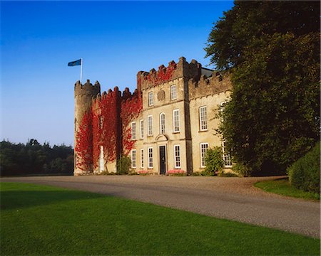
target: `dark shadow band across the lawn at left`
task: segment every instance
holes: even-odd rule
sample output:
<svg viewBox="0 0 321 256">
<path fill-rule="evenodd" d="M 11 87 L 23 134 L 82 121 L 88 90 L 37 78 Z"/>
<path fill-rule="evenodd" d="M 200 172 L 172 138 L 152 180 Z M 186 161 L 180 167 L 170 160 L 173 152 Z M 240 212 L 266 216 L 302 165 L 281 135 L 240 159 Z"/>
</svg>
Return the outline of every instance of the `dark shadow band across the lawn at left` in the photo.
<svg viewBox="0 0 321 256">
<path fill-rule="evenodd" d="M 83 191 L 1 191 L 0 208 L 11 210 L 101 197 L 102 195 Z"/>
</svg>

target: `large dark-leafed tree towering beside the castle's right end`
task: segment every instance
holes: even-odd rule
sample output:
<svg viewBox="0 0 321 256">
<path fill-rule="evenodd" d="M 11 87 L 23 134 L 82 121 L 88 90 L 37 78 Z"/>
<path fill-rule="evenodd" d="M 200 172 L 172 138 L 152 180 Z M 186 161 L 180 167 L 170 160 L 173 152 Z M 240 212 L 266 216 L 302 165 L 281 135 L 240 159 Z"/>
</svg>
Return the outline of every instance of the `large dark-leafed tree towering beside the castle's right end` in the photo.
<svg viewBox="0 0 321 256">
<path fill-rule="evenodd" d="M 220 132 L 247 174 L 282 174 L 320 132 L 320 3 L 250 1 L 218 21 L 205 48 L 232 69 Z"/>
</svg>

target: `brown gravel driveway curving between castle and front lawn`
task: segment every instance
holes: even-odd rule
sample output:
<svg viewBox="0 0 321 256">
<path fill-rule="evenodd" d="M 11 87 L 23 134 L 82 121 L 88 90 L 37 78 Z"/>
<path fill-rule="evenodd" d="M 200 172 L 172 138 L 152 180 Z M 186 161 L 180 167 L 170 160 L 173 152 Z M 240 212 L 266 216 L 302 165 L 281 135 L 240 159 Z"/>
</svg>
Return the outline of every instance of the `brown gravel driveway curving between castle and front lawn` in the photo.
<svg viewBox="0 0 321 256">
<path fill-rule="evenodd" d="M 75 188 L 320 238 L 319 202 L 253 187 L 273 178 L 277 177 L 39 176 L 0 181 Z"/>
</svg>

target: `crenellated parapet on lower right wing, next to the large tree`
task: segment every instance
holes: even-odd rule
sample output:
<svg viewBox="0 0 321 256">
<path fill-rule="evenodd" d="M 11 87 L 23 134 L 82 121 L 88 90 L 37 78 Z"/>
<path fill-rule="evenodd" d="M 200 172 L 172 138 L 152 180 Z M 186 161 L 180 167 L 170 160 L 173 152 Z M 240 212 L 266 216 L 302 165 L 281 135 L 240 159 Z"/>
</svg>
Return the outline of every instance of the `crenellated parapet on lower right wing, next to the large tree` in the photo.
<svg viewBox="0 0 321 256">
<path fill-rule="evenodd" d="M 206 75 L 201 75 L 199 80 L 190 79 L 188 81 L 188 95 L 190 100 L 230 90 L 232 90 L 232 83 L 229 73 L 221 74 L 219 72 L 213 72 L 213 75 L 209 78 Z"/>
</svg>

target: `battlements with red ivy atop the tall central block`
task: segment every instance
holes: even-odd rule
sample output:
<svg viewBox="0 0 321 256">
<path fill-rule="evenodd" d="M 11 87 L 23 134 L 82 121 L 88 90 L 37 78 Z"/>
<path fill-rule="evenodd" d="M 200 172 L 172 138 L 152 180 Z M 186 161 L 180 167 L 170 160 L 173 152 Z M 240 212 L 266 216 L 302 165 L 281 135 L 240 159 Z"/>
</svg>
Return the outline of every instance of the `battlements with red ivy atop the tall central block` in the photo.
<svg viewBox="0 0 321 256">
<path fill-rule="evenodd" d="M 180 57 L 178 63 L 174 60 L 168 63 L 168 67 L 160 65 L 158 71 L 154 68 L 150 72 L 139 71 L 137 73 L 137 89 L 138 91 L 146 90 L 150 87 L 157 86 L 163 82 L 168 82 L 177 78 L 200 78 L 202 65 L 196 60 L 191 60 L 190 63 L 184 57 Z"/>
</svg>

